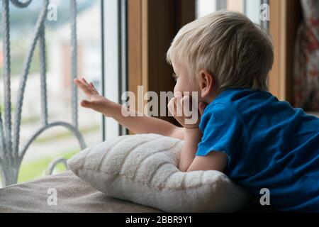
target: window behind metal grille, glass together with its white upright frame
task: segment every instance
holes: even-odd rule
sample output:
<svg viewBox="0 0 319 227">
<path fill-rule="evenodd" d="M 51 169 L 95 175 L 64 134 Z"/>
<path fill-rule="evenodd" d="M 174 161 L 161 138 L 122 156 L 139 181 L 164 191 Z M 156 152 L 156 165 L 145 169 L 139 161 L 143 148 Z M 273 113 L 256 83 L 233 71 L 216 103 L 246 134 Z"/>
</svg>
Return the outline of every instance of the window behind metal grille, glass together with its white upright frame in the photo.
<svg viewBox="0 0 319 227">
<path fill-rule="evenodd" d="M 118 102 L 125 88 L 125 37 L 120 33 L 121 16 L 125 19 L 125 1 L 77 0 L 77 77 L 93 82 L 99 92 Z M 20 74 L 30 40 L 35 30 L 43 1 L 32 1 L 20 9 L 10 2 L 11 18 L 11 121 L 14 121 Z M 70 1 L 51 0 L 49 12 L 55 15 L 45 21 L 47 57 L 47 112 L 49 123 L 72 123 L 72 48 L 70 45 Z M 2 12 L 0 11 L 0 14 Z M 122 19 L 123 19 L 122 18 Z M 122 25 L 124 26 L 124 25 Z M 106 32 L 107 31 L 107 32 Z M 122 29 L 125 34 L 125 27 Z M 0 79 L 3 80 L 3 35 L 0 33 Z M 121 39 L 122 38 L 122 39 Z M 37 45 L 38 46 L 38 45 Z M 103 48 L 104 47 L 104 48 Z M 107 48 L 106 48 L 107 47 Z M 42 126 L 40 99 L 40 64 L 36 48 L 24 92 L 19 148 Z M 124 55 L 125 56 L 125 55 Z M 124 63 L 123 63 L 124 62 Z M 121 65 L 123 64 L 123 65 Z M 86 99 L 78 92 L 78 102 Z M 0 108 L 4 121 L 4 89 L 0 89 Z M 117 123 L 106 120 L 91 109 L 78 106 L 78 127 L 86 147 L 100 143 L 106 137 L 125 133 Z M 23 158 L 18 182 L 26 182 L 44 175 L 45 169 L 56 157 L 72 157 L 82 150 L 73 133 L 64 127 L 49 128 L 30 144 Z M 64 171 L 57 165 L 55 172 Z M 0 175 L 1 177 L 1 175 Z"/>
</svg>

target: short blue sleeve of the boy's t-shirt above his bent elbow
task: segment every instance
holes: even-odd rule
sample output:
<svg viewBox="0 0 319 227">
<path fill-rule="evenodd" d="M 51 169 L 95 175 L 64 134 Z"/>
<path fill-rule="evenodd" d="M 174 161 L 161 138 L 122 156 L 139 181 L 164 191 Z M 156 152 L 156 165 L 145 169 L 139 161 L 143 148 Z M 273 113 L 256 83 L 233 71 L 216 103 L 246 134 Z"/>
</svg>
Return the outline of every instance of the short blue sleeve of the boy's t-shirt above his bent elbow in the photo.
<svg viewBox="0 0 319 227">
<path fill-rule="evenodd" d="M 211 151 L 228 155 L 228 165 L 238 148 L 243 134 L 242 118 L 225 104 L 214 104 L 205 109 L 199 128 L 203 133 L 198 143 L 197 156 L 206 156 Z"/>
</svg>

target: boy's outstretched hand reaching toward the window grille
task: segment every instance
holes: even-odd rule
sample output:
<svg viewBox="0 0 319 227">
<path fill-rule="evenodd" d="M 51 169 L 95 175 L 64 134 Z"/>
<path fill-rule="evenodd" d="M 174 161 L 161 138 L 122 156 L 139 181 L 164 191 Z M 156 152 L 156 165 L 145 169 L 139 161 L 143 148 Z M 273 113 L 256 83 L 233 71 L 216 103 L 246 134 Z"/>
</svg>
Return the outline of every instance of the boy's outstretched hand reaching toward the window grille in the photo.
<svg viewBox="0 0 319 227">
<path fill-rule="evenodd" d="M 104 96 L 101 96 L 99 92 L 95 89 L 92 83 L 86 82 L 84 78 L 74 79 L 74 83 L 77 84 L 77 87 L 84 92 L 87 96 L 87 100 L 81 101 L 81 106 L 89 109 L 94 109 L 94 111 L 101 112 L 102 114 L 108 116 L 108 110 L 111 105 L 111 101 L 106 99 Z"/>
</svg>

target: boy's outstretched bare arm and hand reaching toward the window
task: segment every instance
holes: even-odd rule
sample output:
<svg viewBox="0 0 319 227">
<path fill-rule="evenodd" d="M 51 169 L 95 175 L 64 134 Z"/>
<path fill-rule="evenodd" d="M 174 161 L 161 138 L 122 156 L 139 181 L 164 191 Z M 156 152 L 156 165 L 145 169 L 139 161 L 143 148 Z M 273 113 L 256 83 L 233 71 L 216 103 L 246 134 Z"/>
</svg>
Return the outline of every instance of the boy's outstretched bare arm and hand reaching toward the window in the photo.
<svg viewBox="0 0 319 227">
<path fill-rule="evenodd" d="M 184 128 L 174 126 L 172 123 L 149 116 L 137 116 L 137 113 L 130 110 L 130 116 L 122 114 L 122 105 L 106 99 L 96 91 L 92 83 L 86 82 L 84 78 L 74 79 L 79 89 L 82 89 L 88 100 L 83 100 L 81 106 L 94 109 L 106 117 L 114 118 L 122 126 L 128 128 L 133 133 L 157 133 L 184 139 Z"/>
</svg>

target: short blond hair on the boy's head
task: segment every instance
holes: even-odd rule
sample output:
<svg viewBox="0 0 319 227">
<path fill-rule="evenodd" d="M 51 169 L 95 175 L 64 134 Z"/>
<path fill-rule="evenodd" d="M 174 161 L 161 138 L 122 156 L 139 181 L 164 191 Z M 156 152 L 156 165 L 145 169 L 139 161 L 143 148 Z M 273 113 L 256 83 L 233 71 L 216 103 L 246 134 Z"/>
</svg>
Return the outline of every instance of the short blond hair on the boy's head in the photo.
<svg viewBox="0 0 319 227">
<path fill-rule="evenodd" d="M 242 13 L 217 11 L 179 31 L 167 51 L 167 62 L 179 62 L 198 76 L 208 70 L 220 90 L 249 88 L 267 91 L 272 69 L 272 40 Z"/>
</svg>

